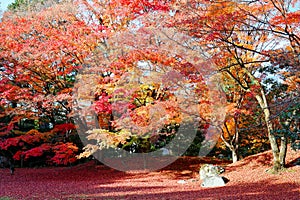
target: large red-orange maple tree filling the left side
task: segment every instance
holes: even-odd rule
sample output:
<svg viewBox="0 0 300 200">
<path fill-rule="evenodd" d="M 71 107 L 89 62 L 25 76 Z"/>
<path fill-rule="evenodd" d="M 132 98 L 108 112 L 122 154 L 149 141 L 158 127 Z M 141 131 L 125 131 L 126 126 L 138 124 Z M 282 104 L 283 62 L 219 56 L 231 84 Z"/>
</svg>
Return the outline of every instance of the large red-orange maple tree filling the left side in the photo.
<svg viewBox="0 0 300 200">
<path fill-rule="evenodd" d="M 39 156 L 49 151 L 49 146 L 40 143 L 50 142 L 56 153 L 75 145 L 67 143 L 74 139 L 70 130 L 75 129 L 74 126 L 68 127 L 73 122 L 69 115 L 72 86 L 83 57 L 89 53 L 89 45 L 95 41 L 88 39 L 92 28 L 84 26 L 71 10 L 72 4 L 58 4 L 41 12 L 6 12 L 2 18 L 0 98 L 1 137 L 4 139 L 2 144 L 5 144 L 2 150 L 17 153 L 18 156 L 11 155 L 16 159 L 20 152 L 9 148 L 23 147 L 18 144 L 20 140 L 23 144 L 24 139 L 27 145 L 22 154 L 25 158 L 26 155 Z M 51 139 L 42 139 L 47 135 L 42 133 L 30 136 L 34 139 L 27 141 L 29 135 L 19 132 L 23 129 L 22 121 L 27 119 L 36 122 L 35 129 L 46 126 L 55 131 Z M 77 150 L 73 149 L 71 154 L 74 157 Z M 55 162 L 74 162 L 75 157 L 68 152 L 60 156 L 56 154 Z M 64 161 L 61 160 L 63 156 Z"/>
</svg>

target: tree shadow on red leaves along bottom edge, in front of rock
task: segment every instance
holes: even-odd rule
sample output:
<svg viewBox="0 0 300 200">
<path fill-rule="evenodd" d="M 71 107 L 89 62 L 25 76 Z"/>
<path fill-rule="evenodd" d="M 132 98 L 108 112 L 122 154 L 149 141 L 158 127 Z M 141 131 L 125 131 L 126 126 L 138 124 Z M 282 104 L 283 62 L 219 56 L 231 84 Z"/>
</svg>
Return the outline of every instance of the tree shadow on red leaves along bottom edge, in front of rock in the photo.
<svg viewBox="0 0 300 200">
<path fill-rule="evenodd" d="M 99 193 L 86 193 L 89 199 L 299 199 L 299 184 L 274 184 L 273 180 L 234 184 L 218 188 L 185 188 L 182 191 L 164 190 L 164 187 L 122 187 L 116 194 L 115 187 L 99 188 Z M 155 190 L 160 192 L 156 192 Z M 110 192 L 111 191 L 111 192 Z M 119 193 L 119 191 L 121 191 Z M 142 191 L 142 192 L 141 192 Z M 138 194 L 136 193 L 138 192 Z M 73 196 L 74 197 L 74 196 Z M 76 197 L 76 196 L 75 196 Z"/>
</svg>

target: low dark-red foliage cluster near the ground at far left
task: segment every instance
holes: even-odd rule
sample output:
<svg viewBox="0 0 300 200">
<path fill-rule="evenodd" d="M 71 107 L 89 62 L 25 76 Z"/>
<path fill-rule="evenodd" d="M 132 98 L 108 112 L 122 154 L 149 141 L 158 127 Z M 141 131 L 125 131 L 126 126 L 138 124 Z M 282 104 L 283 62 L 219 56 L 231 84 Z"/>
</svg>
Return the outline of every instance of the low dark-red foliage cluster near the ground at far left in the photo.
<svg viewBox="0 0 300 200">
<path fill-rule="evenodd" d="M 0 149 L 11 152 L 16 161 L 44 158 L 45 164 L 68 165 L 77 161 L 78 147 L 72 142 L 64 143 L 61 138 L 65 139 L 64 134 L 74 129 L 73 124 L 60 124 L 45 133 L 33 129 L 23 135 L 0 141 Z"/>
</svg>

